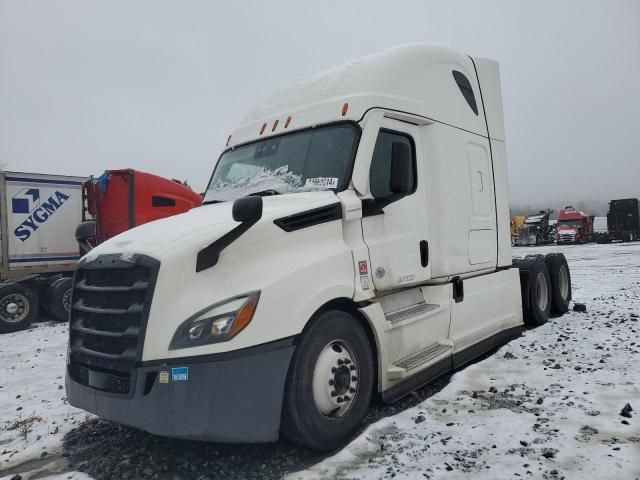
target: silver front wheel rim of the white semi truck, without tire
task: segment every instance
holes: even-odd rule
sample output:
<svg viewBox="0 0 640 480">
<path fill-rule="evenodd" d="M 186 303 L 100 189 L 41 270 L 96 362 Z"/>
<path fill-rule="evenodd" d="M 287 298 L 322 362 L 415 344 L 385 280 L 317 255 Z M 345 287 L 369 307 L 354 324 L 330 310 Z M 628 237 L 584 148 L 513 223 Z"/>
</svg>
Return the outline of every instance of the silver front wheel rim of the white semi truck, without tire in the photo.
<svg viewBox="0 0 640 480">
<path fill-rule="evenodd" d="M 313 400 L 322 415 L 341 418 L 351 409 L 358 394 L 359 372 L 348 342 L 332 340 L 322 349 L 313 369 Z"/>
</svg>

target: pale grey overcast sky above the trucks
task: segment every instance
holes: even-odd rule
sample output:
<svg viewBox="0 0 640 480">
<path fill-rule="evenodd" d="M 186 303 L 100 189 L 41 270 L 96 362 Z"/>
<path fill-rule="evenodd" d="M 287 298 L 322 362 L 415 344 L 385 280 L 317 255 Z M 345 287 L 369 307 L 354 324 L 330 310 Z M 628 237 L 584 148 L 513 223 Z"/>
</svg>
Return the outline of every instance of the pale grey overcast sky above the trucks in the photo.
<svg viewBox="0 0 640 480">
<path fill-rule="evenodd" d="M 513 203 L 640 197 L 638 0 L 0 0 L 0 162 L 202 189 L 271 90 L 411 42 L 500 62 Z"/>
</svg>

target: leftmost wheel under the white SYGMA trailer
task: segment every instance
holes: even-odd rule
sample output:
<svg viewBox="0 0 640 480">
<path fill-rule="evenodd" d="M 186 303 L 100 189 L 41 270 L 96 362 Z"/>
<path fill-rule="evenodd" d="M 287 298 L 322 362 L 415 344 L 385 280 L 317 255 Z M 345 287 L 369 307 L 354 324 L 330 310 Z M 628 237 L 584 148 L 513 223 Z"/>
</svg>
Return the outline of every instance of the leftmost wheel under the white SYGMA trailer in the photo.
<svg viewBox="0 0 640 480">
<path fill-rule="evenodd" d="M 24 330 L 38 317 L 38 293 L 17 283 L 0 288 L 0 333 Z"/>
</svg>

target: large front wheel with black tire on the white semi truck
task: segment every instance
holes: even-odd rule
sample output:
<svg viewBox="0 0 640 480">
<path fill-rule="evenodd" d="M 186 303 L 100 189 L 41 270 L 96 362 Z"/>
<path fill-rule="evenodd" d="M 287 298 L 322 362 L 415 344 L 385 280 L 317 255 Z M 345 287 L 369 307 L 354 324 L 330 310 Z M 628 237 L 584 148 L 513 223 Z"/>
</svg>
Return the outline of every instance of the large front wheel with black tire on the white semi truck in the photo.
<svg viewBox="0 0 640 480">
<path fill-rule="evenodd" d="M 363 328 L 328 311 L 304 332 L 289 368 L 282 433 L 316 450 L 332 450 L 357 431 L 373 390 L 373 357 Z"/>
</svg>

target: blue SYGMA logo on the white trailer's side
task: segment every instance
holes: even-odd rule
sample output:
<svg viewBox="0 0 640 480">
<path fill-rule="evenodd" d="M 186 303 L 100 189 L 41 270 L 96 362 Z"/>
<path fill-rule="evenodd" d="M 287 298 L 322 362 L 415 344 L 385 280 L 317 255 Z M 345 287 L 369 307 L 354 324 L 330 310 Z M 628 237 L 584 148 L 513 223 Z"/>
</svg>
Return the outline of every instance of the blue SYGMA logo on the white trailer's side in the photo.
<svg viewBox="0 0 640 480">
<path fill-rule="evenodd" d="M 30 215 L 14 230 L 14 235 L 21 241 L 31 237 L 40 225 L 45 223 L 67 200 L 69 195 L 59 190 L 46 201 L 40 202 L 40 190 L 29 188 L 20 190 L 11 199 L 12 213 L 29 213 Z"/>
</svg>

